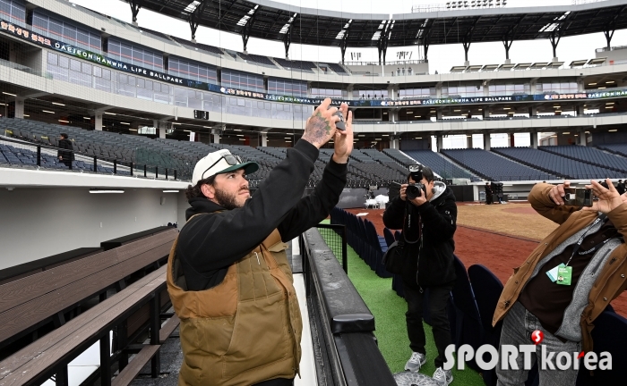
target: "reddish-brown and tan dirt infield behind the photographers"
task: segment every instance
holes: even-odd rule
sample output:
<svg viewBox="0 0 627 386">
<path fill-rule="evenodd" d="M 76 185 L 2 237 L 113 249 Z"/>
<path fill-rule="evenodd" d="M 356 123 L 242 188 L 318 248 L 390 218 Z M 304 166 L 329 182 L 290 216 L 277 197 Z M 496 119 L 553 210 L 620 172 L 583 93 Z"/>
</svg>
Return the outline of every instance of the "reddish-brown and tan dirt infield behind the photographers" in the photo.
<svg viewBox="0 0 627 386">
<path fill-rule="evenodd" d="M 364 217 L 374 223 L 377 233 L 383 234 L 382 209 L 348 209 L 348 212 L 367 213 Z M 526 203 L 460 205 L 455 254 L 466 268 L 483 264 L 504 283 L 513 268 L 556 227 Z M 614 299 L 612 306 L 618 314 L 627 316 L 627 294 Z"/>
</svg>

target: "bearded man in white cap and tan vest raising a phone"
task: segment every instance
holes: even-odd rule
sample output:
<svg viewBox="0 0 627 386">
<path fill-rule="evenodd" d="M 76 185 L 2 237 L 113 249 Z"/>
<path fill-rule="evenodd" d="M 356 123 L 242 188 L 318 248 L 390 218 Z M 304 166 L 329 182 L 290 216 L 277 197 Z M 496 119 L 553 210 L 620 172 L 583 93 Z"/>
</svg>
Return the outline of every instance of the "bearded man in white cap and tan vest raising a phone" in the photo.
<svg viewBox="0 0 627 386">
<path fill-rule="evenodd" d="M 179 385 L 292 385 L 299 372 L 302 321 L 285 249 L 338 203 L 353 148 L 352 113 L 337 130 L 325 99 L 254 193 L 258 169 L 228 150 L 202 158 L 187 189 L 192 206 L 170 253 L 167 289 L 181 319 Z M 303 197 L 319 148 L 334 154 L 314 192 Z"/>
</svg>

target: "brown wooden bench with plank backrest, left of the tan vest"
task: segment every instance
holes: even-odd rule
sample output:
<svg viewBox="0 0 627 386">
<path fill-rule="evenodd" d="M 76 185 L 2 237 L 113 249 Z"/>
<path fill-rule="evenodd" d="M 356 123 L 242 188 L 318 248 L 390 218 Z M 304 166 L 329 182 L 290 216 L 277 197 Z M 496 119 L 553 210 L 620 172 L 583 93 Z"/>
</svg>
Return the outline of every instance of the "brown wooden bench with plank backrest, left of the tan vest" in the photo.
<svg viewBox="0 0 627 386">
<path fill-rule="evenodd" d="M 50 315 L 56 315 L 58 325 L 54 331 L 0 362 L 0 385 L 37 384 L 53 374 L 56 374 L 57 386 L 65 385 L 67 364 L 98 340 L 103 364 L 99 369 L 102 385 L 111 384 L 110 365 L 116 360 L 120 369 L 116 384 L 130 382 L 150 358 L 152 376 L 158 376 L 160 343 L 178 325 L 177 318 L 171 317 L 164 328 L 160 328 L 161 318 L 168 316 L 161 314 L 169 302 L 166 266 L 128 287 L 125 278 L 163 261 L 176 234 L 176 230 L 170 228 L 0 285 L 0 341 L 10 340 Z M 118 292 L 110 298 L 103 297 L 113 285 Z M 102 300 L 98 305 L 65 323 L 64 310 L 98 294 Z M 150 322 L 150 345 L 133 345 L 133 338 L 146 330 L 142 329 L 146 322 Z M 114 340 L 117 347 L 114 347 L 114 356 L 109 357 L 109 331 L 112 330 L 117 331 L 117 340 Z M 131 365 L 127 363 L 129 353 L 136 353 Z"/>
</svg>

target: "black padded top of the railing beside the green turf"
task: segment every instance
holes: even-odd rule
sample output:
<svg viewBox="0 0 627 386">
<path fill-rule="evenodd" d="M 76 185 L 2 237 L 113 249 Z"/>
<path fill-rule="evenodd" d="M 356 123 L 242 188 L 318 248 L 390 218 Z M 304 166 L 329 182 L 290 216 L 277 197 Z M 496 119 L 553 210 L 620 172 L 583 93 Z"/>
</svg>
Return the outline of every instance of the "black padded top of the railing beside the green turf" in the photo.
<svg viewBox="0 0 627 386">
<path fill-rule="evenodd" d="M 324 313 L 329 318 L 331 333 L 374 331 L 374 316 L 320 232 L 312 228 L 305 232 L 305 239 L 312 278 L 320 289 L 319 296 L 325 308 Z"/>
</svg>

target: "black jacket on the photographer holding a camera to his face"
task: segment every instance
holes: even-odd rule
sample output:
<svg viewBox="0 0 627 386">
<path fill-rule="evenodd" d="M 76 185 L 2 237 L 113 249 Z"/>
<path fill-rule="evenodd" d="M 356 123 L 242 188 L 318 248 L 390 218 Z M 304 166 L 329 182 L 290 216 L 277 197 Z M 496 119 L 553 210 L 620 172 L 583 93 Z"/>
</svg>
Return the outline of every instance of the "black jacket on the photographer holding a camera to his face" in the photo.
<svg viewBox="0 0 627 386">
<path fill-rule="evenodd" d="M 417 240 L 413 244 L 405 242 L 402 248 L 402 277 L 407 285 L 426 288 L 456 279 L 453 266 L 453 235 L 457 227 L 455 196 L 451 188 L 444 188 L 441 182 L 436 182 L 437 188 L 444 190 L 422 206 L 414 206 L 396 197 L 383 214 L 386 227 L 402 229 L 400 240 Z M 411 215 L 411 223 L 406 216 L 406 208 Z M 418 230 L 418 224 L 422 231 Z"/>
</svg>

